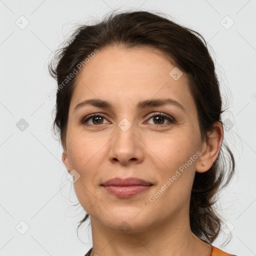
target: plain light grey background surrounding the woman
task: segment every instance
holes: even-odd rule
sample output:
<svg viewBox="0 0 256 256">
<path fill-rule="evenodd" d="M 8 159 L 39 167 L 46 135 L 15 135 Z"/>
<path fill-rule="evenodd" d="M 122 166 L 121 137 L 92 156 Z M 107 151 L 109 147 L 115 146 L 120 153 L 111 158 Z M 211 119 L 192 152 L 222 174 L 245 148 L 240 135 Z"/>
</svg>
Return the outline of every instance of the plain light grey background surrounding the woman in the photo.
<svg viewBox="0 0 256 256">
<path fill-rule="evenodd" d="M 213 49 L 228 108 L 224 136 L 236 161 L 218 201 L 226 222 L 213 245 L 255 255 L 255 0 L 0 0 L 0 255 L 84 255 L 92 245 L 88 222 L 76 236 L 85 212 L 72 206 L 73 184 L 50 132 L 55 96 L 46 95 L 56 83 L 47 63 L 74 24 L 116 8 L 162 11 Z"/>
</svg>

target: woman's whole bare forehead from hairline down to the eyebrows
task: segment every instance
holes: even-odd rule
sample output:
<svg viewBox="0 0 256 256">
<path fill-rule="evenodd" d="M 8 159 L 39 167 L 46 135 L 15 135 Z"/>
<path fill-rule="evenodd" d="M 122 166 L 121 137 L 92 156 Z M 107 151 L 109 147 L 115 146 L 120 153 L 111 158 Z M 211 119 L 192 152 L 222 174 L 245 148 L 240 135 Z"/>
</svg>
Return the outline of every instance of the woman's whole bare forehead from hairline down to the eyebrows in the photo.
<svg viewBox="0 0 256 256">
<path fill-rule="evenodd" d="M 101 49 L 76 75 L 70 109 L 90 98 L 128 107 L 135 106 L 137 101 L 166 97 L 189 109 L 193 99 L 186 75 L 183 73 L 178 79 L 173 79 L 170 72 L 175 68 L 164 53 L 155 48 Z"/>
</svg>

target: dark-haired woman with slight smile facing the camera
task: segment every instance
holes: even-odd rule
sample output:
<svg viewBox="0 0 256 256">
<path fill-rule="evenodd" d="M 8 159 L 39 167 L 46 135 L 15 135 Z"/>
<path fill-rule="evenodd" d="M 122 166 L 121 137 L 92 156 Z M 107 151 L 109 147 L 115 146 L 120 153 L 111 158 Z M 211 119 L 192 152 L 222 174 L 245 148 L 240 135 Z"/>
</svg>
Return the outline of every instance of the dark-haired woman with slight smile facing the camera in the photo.
<svg viewBox="0 0 256 256">
<path fill-rule="evenodd" d="M 49 64 L 62 161 L 87 212 L 80 224 L 91 221 L 86 255 L 231 255 L 212 245 L 234 159 L 198 35 L 148 11 L 111 13 L 77 28 Z"/>
</svg>

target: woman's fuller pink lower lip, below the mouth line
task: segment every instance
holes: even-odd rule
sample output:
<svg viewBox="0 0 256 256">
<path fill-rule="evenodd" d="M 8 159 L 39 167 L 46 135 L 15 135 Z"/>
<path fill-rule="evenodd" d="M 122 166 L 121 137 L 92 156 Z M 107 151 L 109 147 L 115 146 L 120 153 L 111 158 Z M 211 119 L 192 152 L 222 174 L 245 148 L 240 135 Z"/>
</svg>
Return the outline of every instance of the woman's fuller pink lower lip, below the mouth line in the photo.
<svg viewBox="0 0 256 256">
<path fill-rule="evenodd" d="M 152 185 L 131 185 L 131 186 L 104 186 L 110 194 L 117 197 L 131 197 L 149 189 Z"/>
</svg>

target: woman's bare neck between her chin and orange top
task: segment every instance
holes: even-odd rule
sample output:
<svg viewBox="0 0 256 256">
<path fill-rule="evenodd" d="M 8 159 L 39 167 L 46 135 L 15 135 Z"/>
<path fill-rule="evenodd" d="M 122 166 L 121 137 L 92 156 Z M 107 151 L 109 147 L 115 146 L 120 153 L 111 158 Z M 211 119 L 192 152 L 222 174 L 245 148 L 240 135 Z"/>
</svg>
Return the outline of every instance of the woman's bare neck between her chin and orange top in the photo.
<svg viewBox="0 0 256 256">
<path fill-rule="evenodd" d="M 180 214 L 181 215 L 181 214 Z M 143 231 L 122 233 L 102 225 L 91 217 L 92 256 L 210 256 L 210 244 L 200 240 L 190 230 L 189 216 L 168 217 L 162 222 L 147 226 Z"/>
</svg>

